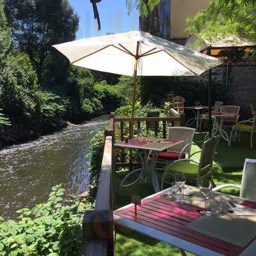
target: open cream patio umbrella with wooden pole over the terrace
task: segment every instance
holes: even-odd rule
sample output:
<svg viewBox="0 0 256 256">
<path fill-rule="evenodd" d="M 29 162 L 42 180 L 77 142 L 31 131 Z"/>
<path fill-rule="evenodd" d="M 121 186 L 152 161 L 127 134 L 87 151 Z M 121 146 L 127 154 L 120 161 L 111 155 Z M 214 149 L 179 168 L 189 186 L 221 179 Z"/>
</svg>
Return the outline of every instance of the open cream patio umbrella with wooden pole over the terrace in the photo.
<svg viewBox="0 0 256 256">
<path fill-rule="evenodd" d="M 200 76 L 221 61 L 143 31 L 84 38 L 53 45 L 72 65 L 133 76 L 132 118 L 137 76 Z"/>
</svg>

